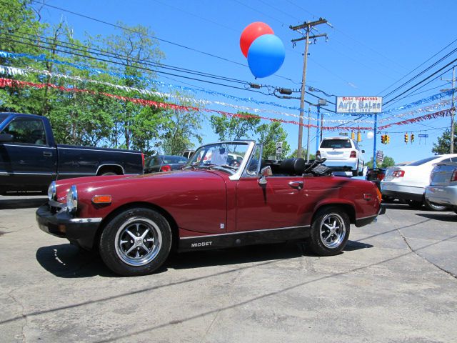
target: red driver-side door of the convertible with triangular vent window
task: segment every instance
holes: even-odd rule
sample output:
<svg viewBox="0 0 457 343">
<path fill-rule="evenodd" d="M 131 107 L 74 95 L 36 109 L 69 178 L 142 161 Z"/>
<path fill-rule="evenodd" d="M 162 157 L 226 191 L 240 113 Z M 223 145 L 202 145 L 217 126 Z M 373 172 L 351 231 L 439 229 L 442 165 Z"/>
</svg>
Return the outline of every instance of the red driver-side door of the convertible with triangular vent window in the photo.
<svg viewBox="0 0 457 343">
<path fill-rule="evenodd" d="M 253 156 L 251 164 L 254 160 L 260 159 L 261 155 L 259 151 L 254 151 Z M 238 180 L 236 232 L 304 226 L 304 178 L 271 176 L 266 180 L 266 184 L 258 183 L 258 171 L 252 172 L 251 175 L 245 172 Z"/>
</svg>

